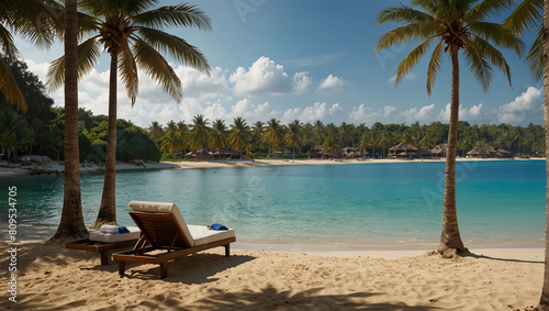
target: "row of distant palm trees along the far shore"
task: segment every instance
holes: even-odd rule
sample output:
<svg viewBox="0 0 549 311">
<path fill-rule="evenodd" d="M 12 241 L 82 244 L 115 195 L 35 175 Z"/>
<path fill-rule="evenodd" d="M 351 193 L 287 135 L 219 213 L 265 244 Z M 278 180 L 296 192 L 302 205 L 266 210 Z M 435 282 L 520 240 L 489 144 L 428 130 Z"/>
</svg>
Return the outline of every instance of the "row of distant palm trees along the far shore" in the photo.
<svg viewBox="0 0 549 311">
<path fill-rule="evenodd" d="M 411 143 L 423 148 L 433 148 L 447 143 L 448 124 L 433 122 L 419 125 L 374 123 L 371 127 L 365 124 L 343 122 L 324 124 L 317 120 L 314 123 L 302 123 L 294 120 L 288 125 L 277 119 L 268 122 L 257 121 L 249 126 L 243 118 L 235 118 L 231 125 L 223 120 L 210 121 L 202 114 L 192 119 L 190 124 L 183 121 L 169 121 L 166 126 L 153 122 L 147 129 L 149 136 L 165 153 L 183 156 L 188 151 L 202 148 L 227 148 L 240 154 L 251 153 L 273 156 L 273 152 L 291 152 L 300 156 L 312 148 L 336 151 L 352 146 L 368 151 L 376 156 L 385 157 L 389 148 L 399 143 Z M 545 151 L 544 127 L 528 126 L 470 125 L 460 121 L 458 126 L 457 149 L 464 156 L 472 148 L 482 149 L 485 146 L 505 148 L 514 154 L 542 156 Z"/>
</svg>

